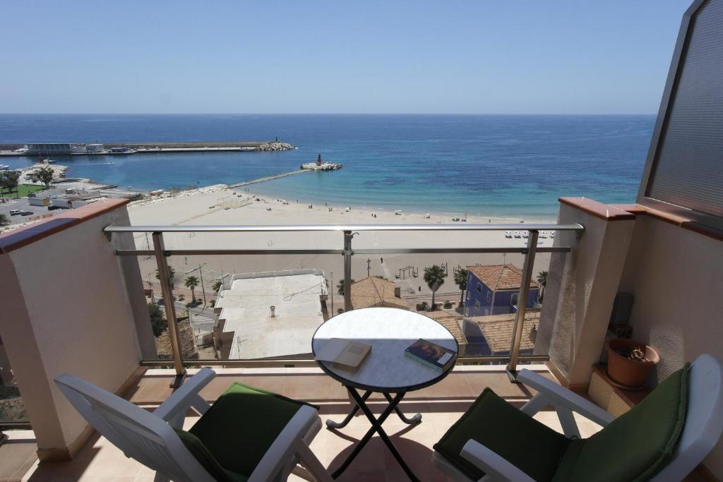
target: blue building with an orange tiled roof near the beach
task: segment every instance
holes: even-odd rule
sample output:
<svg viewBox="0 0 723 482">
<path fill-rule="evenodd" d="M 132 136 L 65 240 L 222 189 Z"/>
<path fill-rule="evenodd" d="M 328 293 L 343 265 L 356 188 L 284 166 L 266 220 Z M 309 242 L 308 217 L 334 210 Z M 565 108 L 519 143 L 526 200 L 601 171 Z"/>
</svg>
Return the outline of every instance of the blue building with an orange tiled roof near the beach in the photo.
<svg viewBox="0 0 723 482">
<path fill-rule="evenodd" d="M 522 272 L 514 264 L 468 266 L 467 292 L 464 314 L 466 317 L 487 317 L 493 314 L 517 311 Z M 537 304 L 539 285 L 530 280 L 527 308 Z"/>
</svg>

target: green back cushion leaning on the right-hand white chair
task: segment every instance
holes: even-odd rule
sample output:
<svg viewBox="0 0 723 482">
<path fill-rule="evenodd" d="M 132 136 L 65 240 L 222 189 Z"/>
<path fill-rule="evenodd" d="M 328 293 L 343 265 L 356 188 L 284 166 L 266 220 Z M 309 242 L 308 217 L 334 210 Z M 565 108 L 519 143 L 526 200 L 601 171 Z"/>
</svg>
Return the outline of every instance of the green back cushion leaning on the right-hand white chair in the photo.
<svg viewBox="0 0 723 482">
<path fill-rule="evenodd" d="M 683 433 L 690 365 L 668 376 L 641 403 L 607 427 L 570 442 L 553 479 L 648 481 L 662 469 Z"/>
</svg>

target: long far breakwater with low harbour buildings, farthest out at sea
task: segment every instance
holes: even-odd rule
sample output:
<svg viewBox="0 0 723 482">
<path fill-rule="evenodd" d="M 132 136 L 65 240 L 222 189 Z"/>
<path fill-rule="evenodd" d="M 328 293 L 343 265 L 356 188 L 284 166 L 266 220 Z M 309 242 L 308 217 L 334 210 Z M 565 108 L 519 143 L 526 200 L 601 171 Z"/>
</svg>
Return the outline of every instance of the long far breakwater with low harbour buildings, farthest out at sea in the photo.
<svg viewBox="0 0 723 482">
<path fill-rule="evenodd" d="M 0 155 L 129 155 L 136 152 L 254 152 L 296 149 L 287 142 L 273 141 L 198 141 L 198 142 L 28 142 L 0 144 Z"/>
</svg>

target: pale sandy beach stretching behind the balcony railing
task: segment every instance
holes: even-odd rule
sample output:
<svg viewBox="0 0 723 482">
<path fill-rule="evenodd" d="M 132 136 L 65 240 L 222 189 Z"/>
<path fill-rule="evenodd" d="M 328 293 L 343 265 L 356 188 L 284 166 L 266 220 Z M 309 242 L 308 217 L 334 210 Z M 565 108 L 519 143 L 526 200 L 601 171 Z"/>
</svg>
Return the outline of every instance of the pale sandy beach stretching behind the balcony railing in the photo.
<svg viewBox="0 0 723 482">
<path fill-rule="evenodd" d="M 468 218 L 466 223 L 453 223 L 450 215 L 427 213 L 404 213 L 395 215 L 384 210 L 364 210 L 356 207 L 309 205 L 299 199 L 269 199 L 257 196 L 245 189 L 228 189 L 225 185 L 208 186 L 191 191 L 181 191 L 173 196 L 145 199 L 129 205 L 132 225 L 369 225 L 369 224 L 437 224 L 449 223 L 501 223 L 493 218 Z M 538 220 L 536 220 L 538 221 Z M 554 223 L 555 220 L 547 220 Z M 517 222 L 519 228 L 524 223 Z M 513 229 L 513 228 L 511 228 Z M 138 249 L 152 248 L 150 234 L 134 235 Z M 294 232 L 294 233 L 166 233 L 167 249 L 341 249 L 342 233 Z M 542 238 L 539 246 L 552 246 L 552 238 Z M 471 247 L 521 247 L 524 238 L 505 238 L 502 231 L 399 231 L 364 232 L 354 237 L 354 249 L 393 248 L 471 248 Z M 368 262 L 367 262 L 368 260 Z M 155 260 L 139 259 L 143 279 L 152 285 L 155 280 Z M 185 273 L 202 266 L 203 281 L 209 296 L 215 280 L 223 275 L 239 272 L 291 270 L 317 268 L 324 270 L 329 284 L 335 286 L 343 277 L 343 258 L 328 255 L 257 255 L 257 256 L 177 256 L 168 259 L 176 270 L 176 289 L 183 291 Z M 352 278 L 360 280 L 367 276 L 382 276 L 396 281 L 402 288 L 403 297 L 427 297 L 430 292 L 422 280 L 424 267 L 447 264 L 450 276 L 438 295 L 458 299 L 459 290 L 453 282 L 455 267 L 474 264 L 513 263 L 522 266 L 522 254 L 386 254 L 383 257 L 356 255 L 352 258 Z M 535 273 L 547 270 L 549 254 L 536 257 Z M 368 271 L 367 271 L 368 267 Z M 419 277 L 411 276 L 413 267 Z M 198 275 L 198 271 L 192 273 Z M 157 287 L 157 286 L 156 286 Z M 420 289 L 421 288 L 421 289 Z M 333 288 L 335 293 L 335 288 Z M 200 293 L 200 287 L 197 288 Z M 341 303 L 341 297 L 336 300 Z M 341 305 L 339 305 L 341 306 Z"/>
</svg>

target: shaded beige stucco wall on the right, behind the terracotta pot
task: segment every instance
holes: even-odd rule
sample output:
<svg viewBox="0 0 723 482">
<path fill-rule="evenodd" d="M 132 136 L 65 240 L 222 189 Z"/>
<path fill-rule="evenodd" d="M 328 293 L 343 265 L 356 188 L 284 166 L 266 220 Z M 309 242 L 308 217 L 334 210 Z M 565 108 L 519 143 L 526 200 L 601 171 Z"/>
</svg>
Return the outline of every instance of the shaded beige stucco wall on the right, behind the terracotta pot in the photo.
<svg viewBox="0 0 723 482">
<path fill-rule="evenodd" d="M 723 241 L 639 216 L 620 291 L 635 295 L 633 337 L 660 354 L 650 382 L 701 353 L 723 359 Z M 723 479 L 723 443 L 704 463 Z"/>
</svg>

